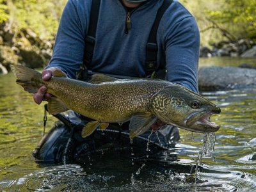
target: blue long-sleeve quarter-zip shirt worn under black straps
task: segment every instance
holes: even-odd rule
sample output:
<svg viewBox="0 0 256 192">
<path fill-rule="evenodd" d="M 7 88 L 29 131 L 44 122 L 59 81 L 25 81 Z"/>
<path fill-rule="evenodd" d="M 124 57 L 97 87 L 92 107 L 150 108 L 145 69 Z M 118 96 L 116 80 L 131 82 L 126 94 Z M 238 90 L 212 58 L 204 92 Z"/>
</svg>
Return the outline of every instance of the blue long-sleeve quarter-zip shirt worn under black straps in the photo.
<svg viewBox="0 0 256 192">
<path fill-rule="evenodd" d="M 69 0 L 61 16 L 52 59 L 47 66 L 59 67 L 75 78 L 83 63 L 84 39 L 93 0 Z M 100 4 L 93 72 L 144 77 L 148 35 L 163 0 L 150 0 L 131 14 L 131 29 L 125 33 L 127 11 L 119 0 Z M 198 92 L 198 50 L 200 36 L 191 13 L 173 1 L 157 31 L 157 62 L 166 66 L 166 80 Z"/>
</svg>

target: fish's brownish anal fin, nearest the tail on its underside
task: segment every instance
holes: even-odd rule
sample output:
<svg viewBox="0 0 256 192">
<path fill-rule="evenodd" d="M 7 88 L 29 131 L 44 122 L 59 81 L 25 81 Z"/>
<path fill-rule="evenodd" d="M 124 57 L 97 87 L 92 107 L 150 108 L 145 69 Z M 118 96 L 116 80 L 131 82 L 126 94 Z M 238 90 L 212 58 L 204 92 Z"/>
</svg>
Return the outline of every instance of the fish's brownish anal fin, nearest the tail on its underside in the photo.
<svg viewBox="0 0 256 192">
<path fill-rule="evenodd" d="M 52 115 L 67 111 L 69 108 L 57 97 L 50 97 L 48 100 L 48 111 Z"/>
</svg>

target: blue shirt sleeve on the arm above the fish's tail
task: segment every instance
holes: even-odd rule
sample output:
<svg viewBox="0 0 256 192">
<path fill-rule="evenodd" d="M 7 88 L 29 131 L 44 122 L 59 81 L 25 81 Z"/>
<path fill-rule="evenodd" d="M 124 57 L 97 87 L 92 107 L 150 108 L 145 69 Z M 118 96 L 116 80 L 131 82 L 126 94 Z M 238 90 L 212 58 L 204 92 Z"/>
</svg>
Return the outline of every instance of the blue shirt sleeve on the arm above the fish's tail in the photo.
<svg viewBox="0 0 256 192">
<path fill-rule="evenodd" d="M 76 78 L 83 63 L 84 36 L 90 18 L 88 1 L 69 0 L 63 10 L 49 67 L 58 67 Z"/>
</svg>

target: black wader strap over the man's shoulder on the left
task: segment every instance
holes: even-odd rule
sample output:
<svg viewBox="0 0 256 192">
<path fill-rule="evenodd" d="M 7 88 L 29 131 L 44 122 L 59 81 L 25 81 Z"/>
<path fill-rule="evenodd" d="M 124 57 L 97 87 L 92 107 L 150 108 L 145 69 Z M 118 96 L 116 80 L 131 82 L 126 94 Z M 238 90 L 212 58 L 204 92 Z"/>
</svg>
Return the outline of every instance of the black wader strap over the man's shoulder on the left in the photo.
<svg viewBox="0 0 256 192">
<path fill-rule="evenodd" d="M 92 62 L 93 49 L 95 45 L 95 35 L 99 18 L 99 10 L 100 0 L 93 0 L 90 12 L 88 33 L 84 40 L 84 62 L 81 65 L 79 72 L 77 73 L 77 79 L 84 79 L 84 75 L 86 75 L 86 66 L 88 67 Z"/>
</svg>

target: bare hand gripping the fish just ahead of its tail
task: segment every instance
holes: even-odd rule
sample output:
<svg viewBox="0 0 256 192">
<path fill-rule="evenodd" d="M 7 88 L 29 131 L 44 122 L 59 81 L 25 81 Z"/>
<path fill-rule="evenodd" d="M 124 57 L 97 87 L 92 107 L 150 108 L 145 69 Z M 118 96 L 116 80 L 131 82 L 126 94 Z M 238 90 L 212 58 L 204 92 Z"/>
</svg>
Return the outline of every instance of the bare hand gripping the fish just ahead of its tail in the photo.
<svg viewBox="0 0 256 192">
<path fill-rule="evenodd" d="M 61 69 L 58 67 L 50 67 L 50 68 L 43 70 L 42 79 L 44 81 L 49 81 L 49 79 L 51 79 L 52 74 L 55 70 L 61 70 Z M 50 97 L 52 97 L 52 95 L 50 93 L 47 93 L 46 86 L 41 86 L 38 89 L 38 92 L 34 93 L 34 95 L 33 95 L 33 98 L 37 104 L 40 104 L 43 100 L 47 100 Z"/>
</svg>

